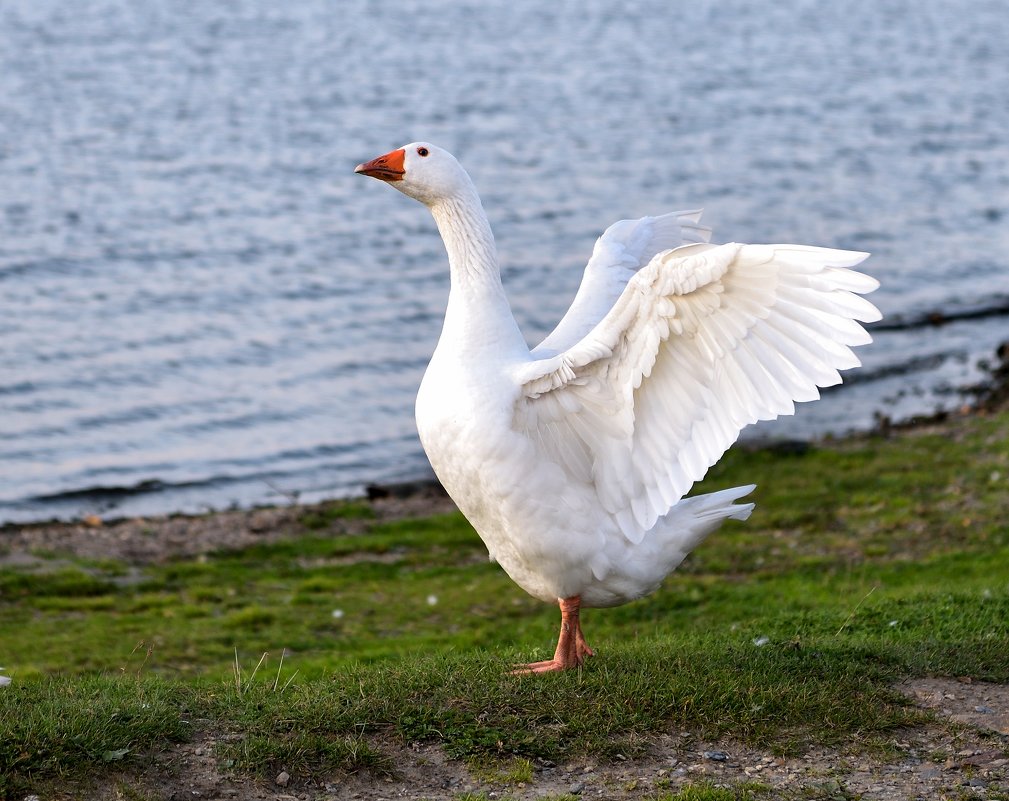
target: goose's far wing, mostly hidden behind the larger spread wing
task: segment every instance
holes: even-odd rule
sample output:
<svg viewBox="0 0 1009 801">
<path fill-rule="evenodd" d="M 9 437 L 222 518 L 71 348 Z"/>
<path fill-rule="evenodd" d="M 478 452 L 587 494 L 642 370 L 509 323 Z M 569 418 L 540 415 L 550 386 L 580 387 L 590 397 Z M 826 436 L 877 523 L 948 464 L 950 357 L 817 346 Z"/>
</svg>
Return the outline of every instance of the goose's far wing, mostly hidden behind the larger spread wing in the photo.
<svg viewBox="0 0 1009 801">
<path fill-rule="evenodd" d="M 672 212 L 610 225 L 595 241 L 567 314 L 533 349 L 533 356 L 556 356 L 584 337 L 613 308 L 628 281 L 656 253 L 706 242 L 711 229 L 700 224 L 700 210 Z"/>
</svg>

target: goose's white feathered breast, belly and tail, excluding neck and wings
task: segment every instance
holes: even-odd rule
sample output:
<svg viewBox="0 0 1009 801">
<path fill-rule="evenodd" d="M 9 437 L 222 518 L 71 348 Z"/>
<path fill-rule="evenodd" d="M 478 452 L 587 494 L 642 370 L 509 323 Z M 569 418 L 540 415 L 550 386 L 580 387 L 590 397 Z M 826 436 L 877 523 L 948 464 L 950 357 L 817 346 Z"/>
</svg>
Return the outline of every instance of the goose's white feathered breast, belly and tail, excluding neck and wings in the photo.
<svg viewBox="0 0 1009 801">
<path fill-rule="evenodd" d="M 451 349 L 436 352 L 417 396 L 417 425 L 435 474 L 472 524 L 491 559 L 547 602 L 580 595 L 614 606 L 654 591 L 753 487 L 680 500 L 632 543 L 599 504 L 595 487 L 572 481 L 513 426 L 517 363 L 485 354 L 480 378 Z"/>
</svg>

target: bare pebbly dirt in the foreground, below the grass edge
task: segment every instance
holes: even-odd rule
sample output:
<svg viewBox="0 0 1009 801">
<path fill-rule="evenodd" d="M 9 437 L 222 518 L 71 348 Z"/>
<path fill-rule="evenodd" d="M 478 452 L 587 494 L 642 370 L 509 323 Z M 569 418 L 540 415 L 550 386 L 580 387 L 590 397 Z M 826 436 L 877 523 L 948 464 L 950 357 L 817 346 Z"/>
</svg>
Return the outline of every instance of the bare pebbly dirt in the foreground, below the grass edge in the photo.
<svg viewBox="0 0 1009 801">
<path fill-rule="evenodd" d="M 458 801 L 467 794 L 502 801 L 565 795 L 648 801 L 707 781 L 721 787 L 758 782 L 772 789 L 771 797 L 784 799 L 1009 798 L 1009 686 L 919 679 L 900 689 L 919 707 L 936 712 L 937 719 L 899 732 L 887 743 L 885 757 L 873 756 L 880 750 L 817 748 L 780 758 L 732 740 L 704 742 L 676 731 L 650 740 L 644 758 L 543 762 L 534 766 L 531 781 L 509 784 L 488 779 L 486 771 L 474 776 L 437 746 L 386 739 L 375 745 L 391 758 L 393 776 L 362 773 L 311 781 L 282 772 L 272 781 L 252 782 L 222 773 L 215 741 L 204 736 L 159 755 L 144 774 L 122 777 L 113 792 L 101 795 L 122 798 L 133 788 L 171 801 Z"/>
</svg>

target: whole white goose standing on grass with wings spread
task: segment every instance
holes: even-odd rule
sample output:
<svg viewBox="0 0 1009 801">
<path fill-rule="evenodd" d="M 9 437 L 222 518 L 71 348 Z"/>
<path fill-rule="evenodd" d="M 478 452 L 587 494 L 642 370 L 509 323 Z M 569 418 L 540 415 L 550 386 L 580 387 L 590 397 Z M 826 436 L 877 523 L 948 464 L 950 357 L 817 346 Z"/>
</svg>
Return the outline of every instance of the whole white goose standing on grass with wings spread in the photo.
<svg viewBox="0 0 1009 801">
<path fill-rule="evenodd" d="M 700 212 L 624 220 L 599 238 L 557 328 L 530 351 L 494 239 L 451 153 L 414 142 L 357 166 L 425 204 L 448 251 L 445 325 L 417 396 L 435 473 L 524 590 L 560 604 L 554 658 L 591 656 L 580 606 L 648 595 L 753 485 L 684 498 L 758 420 L 792 414 L 858 366 L 878 320 L 848 267 L 866 253 L 707 244 Z"/>
</svg>

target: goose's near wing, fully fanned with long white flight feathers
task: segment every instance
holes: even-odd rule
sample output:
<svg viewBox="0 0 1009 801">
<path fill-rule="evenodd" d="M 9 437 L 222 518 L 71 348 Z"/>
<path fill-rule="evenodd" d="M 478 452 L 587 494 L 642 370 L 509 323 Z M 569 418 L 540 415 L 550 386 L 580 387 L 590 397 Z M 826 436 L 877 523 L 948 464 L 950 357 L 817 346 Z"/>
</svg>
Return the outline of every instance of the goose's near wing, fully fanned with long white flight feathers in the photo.
<svg viewBox="0 0 1009 801">
<path fill-rule="evenodd" d="M 792 414 L 856 367 L 880 318 L 866 253 L 696 244 L 657 254 L 587 335 L 524 364 L 515 425 L 644 533 L 740 431 Z"/>
</svg>

